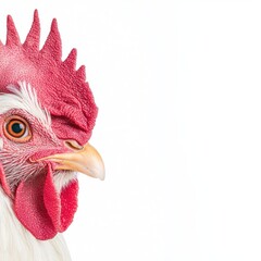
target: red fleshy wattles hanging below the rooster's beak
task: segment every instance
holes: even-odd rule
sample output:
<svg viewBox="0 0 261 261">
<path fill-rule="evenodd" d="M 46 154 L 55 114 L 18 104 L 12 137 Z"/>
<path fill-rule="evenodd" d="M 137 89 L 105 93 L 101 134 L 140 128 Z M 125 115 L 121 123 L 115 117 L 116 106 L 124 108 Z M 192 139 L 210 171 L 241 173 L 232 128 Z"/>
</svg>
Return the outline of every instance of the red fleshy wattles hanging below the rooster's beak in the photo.
<svg viewBox="0 0 261 261">
<path fill-rule="evenodd" d="M 39 175 L 21 182 L 14 197 L 14 212 L 37 238 L 47 240 L 64 232 L 77 210 L 78 183 L 72 181 L 58 192 L 51 164 Z"/>
</svg>

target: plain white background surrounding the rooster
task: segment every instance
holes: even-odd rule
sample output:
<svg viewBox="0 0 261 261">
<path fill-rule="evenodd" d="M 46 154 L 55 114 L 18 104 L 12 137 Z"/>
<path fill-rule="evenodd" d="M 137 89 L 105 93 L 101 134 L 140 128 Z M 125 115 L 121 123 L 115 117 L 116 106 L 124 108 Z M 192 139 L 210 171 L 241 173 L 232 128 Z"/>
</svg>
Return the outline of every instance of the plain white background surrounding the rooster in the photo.
<svg viewBox="0 0 261 261">
<path fill-rule="evenodd" d="M 261 260 L 261 2 L 35 2 L 0 3 L 1 38 L 57 17 L 99 107 L 73 260 Z"/>
</svg>

